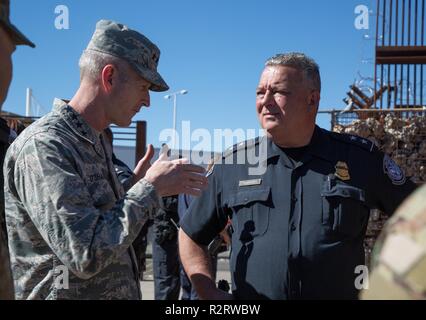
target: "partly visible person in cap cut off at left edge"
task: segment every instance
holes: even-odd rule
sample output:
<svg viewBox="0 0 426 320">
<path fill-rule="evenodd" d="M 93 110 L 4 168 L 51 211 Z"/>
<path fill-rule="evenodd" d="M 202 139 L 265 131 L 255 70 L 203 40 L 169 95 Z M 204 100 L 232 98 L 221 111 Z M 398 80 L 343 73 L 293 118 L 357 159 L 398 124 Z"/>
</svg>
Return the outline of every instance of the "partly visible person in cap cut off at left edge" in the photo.
<svg viewBox="0 0 426 320">
<path fill-rule="evenodd" d="M 9 20 L 9 0 L 0 0 L 0 111 L 6 100 L 10 81 L 12 80 L 12 53 L 16 45 L 34 47 Z M 5 119 L 0 118 L 0 165 L 3 167 L 11 130 Z M 13 299 L 13 281 L 10 272 L 9 250 L 7 247 L 6 223 L 4 220 L 3 171 L 0 173 L 0 299 Z"/>
</svg>

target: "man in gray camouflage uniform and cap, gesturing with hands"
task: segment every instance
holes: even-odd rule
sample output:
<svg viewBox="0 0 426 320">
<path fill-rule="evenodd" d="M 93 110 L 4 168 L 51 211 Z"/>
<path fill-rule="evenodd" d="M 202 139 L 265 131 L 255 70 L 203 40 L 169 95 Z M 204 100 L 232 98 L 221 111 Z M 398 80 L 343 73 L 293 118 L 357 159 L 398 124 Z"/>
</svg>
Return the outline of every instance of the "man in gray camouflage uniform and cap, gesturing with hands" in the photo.
<svg viewBox="0 0 426 320">
<path fill-rule="evenodd" d="M 159 49 L 142 34 L 101 20 L 80 59 L 81 83 L 67 104 L 27 128 L 5 159 L 9 248 L 18 299 L 140 299 L 132 242 L 159 197 L 206 185 L 201 167 L 154 154 L 125 192 L 102 131 L 128 126 L 149 90 L 165 91 Z"/>
</svg>

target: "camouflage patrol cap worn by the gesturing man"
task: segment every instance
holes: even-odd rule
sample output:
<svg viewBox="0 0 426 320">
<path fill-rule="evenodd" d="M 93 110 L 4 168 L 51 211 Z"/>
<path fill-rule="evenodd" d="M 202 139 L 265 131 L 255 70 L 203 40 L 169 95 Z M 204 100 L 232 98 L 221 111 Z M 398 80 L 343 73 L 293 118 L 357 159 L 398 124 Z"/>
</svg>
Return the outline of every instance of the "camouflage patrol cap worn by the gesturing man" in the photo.
<svg viewBox="0 0 426 320">
<path fill-rule="evenodd" d="M 160 50 L 144 35 L 123 24 L 100 20 L 86 50 L 107 53 L 127 61 L 143 79 L 151 83 L 152 91 L 169 89 L 157 72 Z"/>
</svg>

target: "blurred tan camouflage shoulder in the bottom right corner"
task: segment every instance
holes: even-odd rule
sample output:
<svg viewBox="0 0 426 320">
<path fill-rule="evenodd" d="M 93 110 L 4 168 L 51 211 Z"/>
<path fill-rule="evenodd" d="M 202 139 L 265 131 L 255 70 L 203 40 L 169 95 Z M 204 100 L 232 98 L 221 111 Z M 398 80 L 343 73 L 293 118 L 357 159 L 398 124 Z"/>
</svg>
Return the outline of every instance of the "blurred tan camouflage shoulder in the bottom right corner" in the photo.
<svg viewBox="0 0 426 320">
<path fill-rule="evenodd" d="M 426 299 L 426 185 L 390 218 L 373 254 L 363 299 Z"/>
</svg>

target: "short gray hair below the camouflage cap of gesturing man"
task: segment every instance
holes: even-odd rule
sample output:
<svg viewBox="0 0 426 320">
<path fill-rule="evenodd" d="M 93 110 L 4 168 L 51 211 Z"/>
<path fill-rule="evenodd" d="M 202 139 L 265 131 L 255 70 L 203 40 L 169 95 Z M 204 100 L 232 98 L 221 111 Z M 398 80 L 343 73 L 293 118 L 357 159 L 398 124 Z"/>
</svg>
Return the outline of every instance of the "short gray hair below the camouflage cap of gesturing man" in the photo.
<svg viewBox="0 0 426 320">
<path fill-rule="evenodd" d="M 84 50 L 80 57 L 80 61 L 78 62 L 80 80 L 86 77 L 98 80 L 102 69 L 108 64 L 114 65 L 119 71 L 124 71 L 119 73 L 120 79 L 123 81 L 127 80 L 124 74 L 130 66 L 126 61 L 113 55 L 93 50 Z"/>
</svg>

